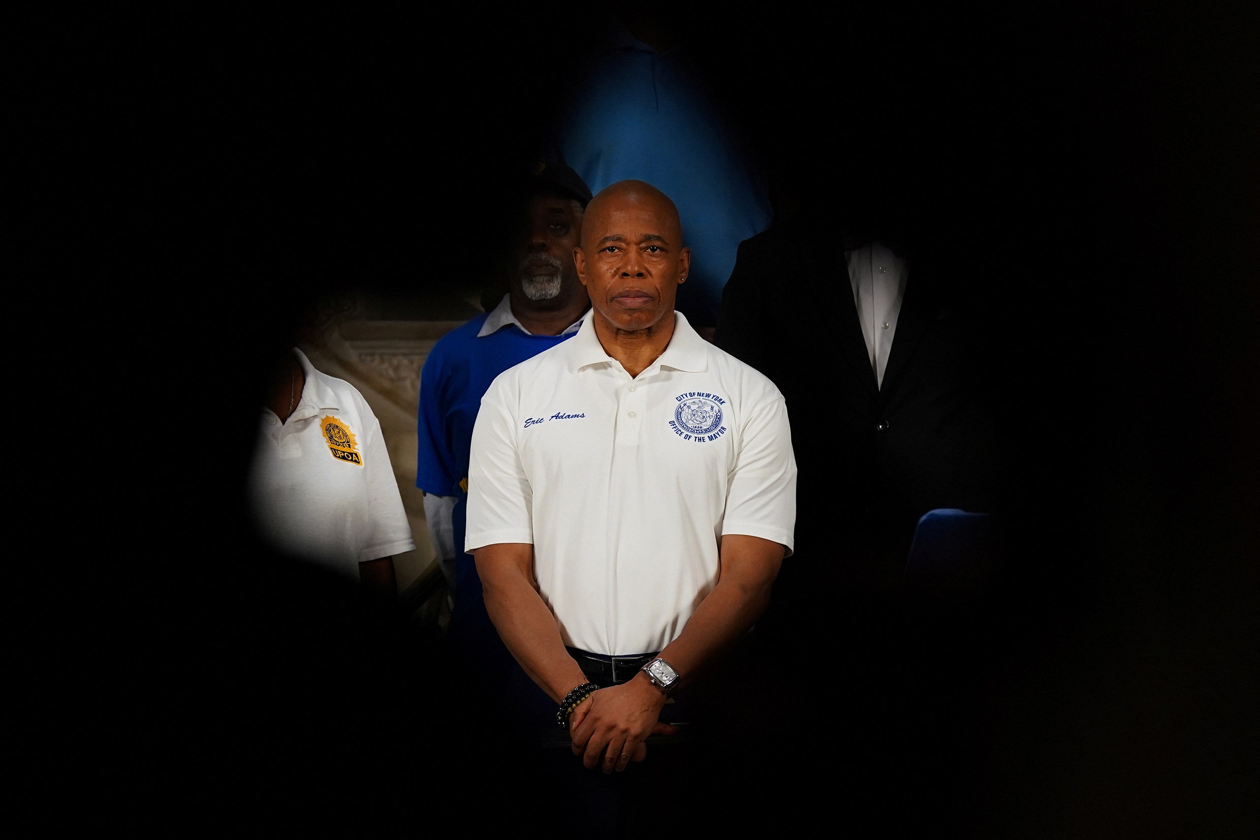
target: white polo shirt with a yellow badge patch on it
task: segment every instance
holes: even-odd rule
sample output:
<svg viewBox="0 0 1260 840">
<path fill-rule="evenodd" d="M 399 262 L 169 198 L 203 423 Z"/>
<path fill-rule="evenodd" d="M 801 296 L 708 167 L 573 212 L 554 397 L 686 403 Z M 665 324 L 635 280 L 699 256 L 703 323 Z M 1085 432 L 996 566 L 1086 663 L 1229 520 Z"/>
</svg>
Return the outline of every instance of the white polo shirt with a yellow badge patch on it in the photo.
<svg viewBox="0 0 1260 840">
<path fill-rule="evenodd" d="M 381 423 L 350 383 L 311 366 L 284 423 L 262 411 L 249 496 L 276 548 L 358 579 L 363 560 L 416 548 Z"/>
</svg>

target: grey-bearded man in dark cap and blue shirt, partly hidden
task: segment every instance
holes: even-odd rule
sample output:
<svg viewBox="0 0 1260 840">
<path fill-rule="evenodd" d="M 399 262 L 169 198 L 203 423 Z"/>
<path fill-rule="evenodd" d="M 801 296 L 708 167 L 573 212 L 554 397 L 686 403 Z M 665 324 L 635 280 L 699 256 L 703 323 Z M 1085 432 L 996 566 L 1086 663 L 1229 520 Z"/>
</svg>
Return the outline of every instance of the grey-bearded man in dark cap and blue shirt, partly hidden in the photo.
<svg viewBox="0 0 1260 840">
<path fill-rule="evenodd" d="M 568 166 L 536 164 L 519 195 L 508 293 L 485 315 L 442 336 L 425 361 L 416 468 L 430 538 L 455 592 L 452 641 L 476 657 L 508 665 L 485 616 L 472 555 L 462 550 L 472 423 L 495 377 L 575 335 L 591 306 L 573 267 L 591 191 Z"/>
</svg>

